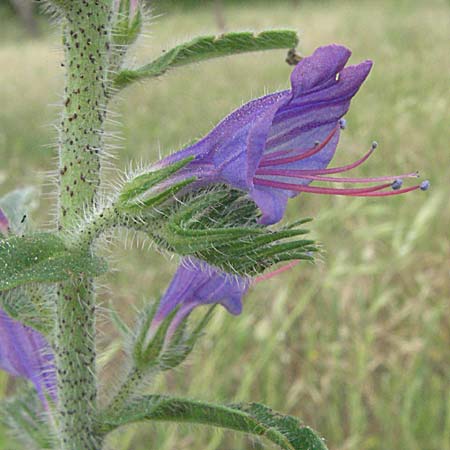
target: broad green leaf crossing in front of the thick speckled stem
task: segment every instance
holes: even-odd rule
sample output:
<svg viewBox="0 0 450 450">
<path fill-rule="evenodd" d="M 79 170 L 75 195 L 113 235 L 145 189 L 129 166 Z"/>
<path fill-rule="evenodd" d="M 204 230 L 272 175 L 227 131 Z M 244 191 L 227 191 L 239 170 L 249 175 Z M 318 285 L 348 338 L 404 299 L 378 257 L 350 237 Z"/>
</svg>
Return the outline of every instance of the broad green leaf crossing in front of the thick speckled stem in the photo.
<svg viewBox="0 0 450 450">
<path fill-rule="evenodd" d="M 55 234 L 36 233 L 0 240 L 0 291 L 27 283 L 54 283 L 105 273 L 103 259 L 69 250 Z"/>
</svg>

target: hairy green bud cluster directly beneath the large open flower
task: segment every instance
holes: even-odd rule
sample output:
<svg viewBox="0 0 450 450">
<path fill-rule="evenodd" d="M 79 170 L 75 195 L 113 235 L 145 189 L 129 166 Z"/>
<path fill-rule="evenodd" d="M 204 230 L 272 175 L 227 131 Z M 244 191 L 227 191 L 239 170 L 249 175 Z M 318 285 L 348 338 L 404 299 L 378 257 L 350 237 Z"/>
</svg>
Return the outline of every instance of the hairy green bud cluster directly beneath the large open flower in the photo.
<svg viewBox="0 0 450 450">
<path fill-rule="evenodd" d="M 317 250 L 299 226 L 272 229 L 245 193 L 226 186 L 203 189 L 160 210 L 143 231 L 163 250 L 192 256 L 227 273 L 255 276 L 272 265 L 313 260 Z M 144 217 L 145 221 L 145 217 Z"/>
</svg>

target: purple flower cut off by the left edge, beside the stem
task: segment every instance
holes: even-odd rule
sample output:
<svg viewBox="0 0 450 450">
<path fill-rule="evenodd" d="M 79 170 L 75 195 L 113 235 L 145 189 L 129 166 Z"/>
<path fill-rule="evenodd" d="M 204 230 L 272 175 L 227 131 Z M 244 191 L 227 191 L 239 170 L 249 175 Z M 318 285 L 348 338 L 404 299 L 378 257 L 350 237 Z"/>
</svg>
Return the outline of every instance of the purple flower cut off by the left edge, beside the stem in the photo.
<svg viewBox="0 0 450 450">
<path fill-rule="evenodd" d="M 0 309 L 0 369 L 30 380 L 44 407 L 46 394 L 56 401 L 53 354 L 37 331 L 11 319 Z"/>
</svg>

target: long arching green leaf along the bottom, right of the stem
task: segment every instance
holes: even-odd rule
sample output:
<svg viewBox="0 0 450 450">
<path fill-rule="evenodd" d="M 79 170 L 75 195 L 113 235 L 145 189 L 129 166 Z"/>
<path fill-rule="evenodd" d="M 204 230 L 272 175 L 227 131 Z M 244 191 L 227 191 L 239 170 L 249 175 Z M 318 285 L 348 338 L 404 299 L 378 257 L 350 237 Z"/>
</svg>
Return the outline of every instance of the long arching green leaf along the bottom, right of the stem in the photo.
<svg viewBox="0 0 450 450">
<path fill-rule="evenodd" d="M 138 398 L 105 414 L 100 433 L 144 420 L 211 425 L 265 437 L 285 450 L 326 450 L 323 440 L 292 416 L 258 404 L 216 405 L 163 395 Z"/>
</svg>

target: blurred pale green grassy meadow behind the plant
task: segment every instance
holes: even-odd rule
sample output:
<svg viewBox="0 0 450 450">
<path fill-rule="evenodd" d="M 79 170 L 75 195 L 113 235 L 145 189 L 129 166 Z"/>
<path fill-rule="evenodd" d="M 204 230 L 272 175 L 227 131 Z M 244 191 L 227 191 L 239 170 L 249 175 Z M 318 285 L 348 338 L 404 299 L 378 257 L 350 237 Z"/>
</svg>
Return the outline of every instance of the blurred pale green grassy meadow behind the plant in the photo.
<svg viewBox="0 0 450 450">
<path fill-rule="evenodd" d="M 176 2 L 172 2 L 175 3 Z M 192 2 L 191 2 L 192 3 Z M 195 2 L 194 2 L 195 3 Z M 131 64 L 199 33 L 219 33 L 214 8 L 164 12 L 155 7 Z M 161 13 L 161 14 L 160 14 Z M 188 364 L 159 377 L 151 390 L 204 400 L 261 401 L 296 415 L 326 437 L 330 450 L 450 449 L 450 176 L 449 30 L 446 0 L 233 2 L 228 30 L 294 28 L 300 51 L 337 42 L 351 62 L 374 69 L 352 103 L 336 165 L 375 154 L 365 176 L 420 170 L 432 188 L 398 198 L 301 195 L 288 219 L 314 217 L 320 261 L 255 286 L 244 312 L 216 313 Z M 0 9 L 0 193 L 36 185 L 42 226 L 55 211 L 49 171 L 55 167 L 62 92 L 56 24 L 39 22 L 28 38 Z M 125 90 L 114 102 L 111 131 L 123 138 L 111 159 L 151 162 L 201 137 L 243 102 L 288 86 L 283 51 L 246 54 L 180 69 Z M 114 181 L 117 173 L 105 170 Z M 50 213 L 49 213 L 50 211 Z M 134 241 L 134 242 L 133 242 Z M 133 323 L 135 307 L 163 292 L 176 260 L 129 236 L 110 256 L 115 273 L 101 279 L 99 300 Z M 120 336 L 99 314 L 102 392 L 118 382 Z M 17 381 L 0 373 L 0 396 Z M 20 446 L 0 429 L 0 449 Z M 266 442 L 229 432 L 139 425 L 121 429 L 111 449 L 244 450 Z"/>
</svg>

